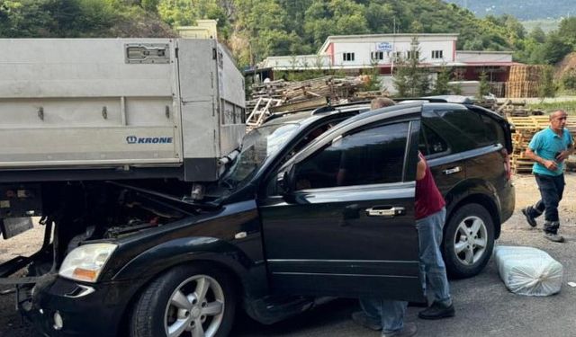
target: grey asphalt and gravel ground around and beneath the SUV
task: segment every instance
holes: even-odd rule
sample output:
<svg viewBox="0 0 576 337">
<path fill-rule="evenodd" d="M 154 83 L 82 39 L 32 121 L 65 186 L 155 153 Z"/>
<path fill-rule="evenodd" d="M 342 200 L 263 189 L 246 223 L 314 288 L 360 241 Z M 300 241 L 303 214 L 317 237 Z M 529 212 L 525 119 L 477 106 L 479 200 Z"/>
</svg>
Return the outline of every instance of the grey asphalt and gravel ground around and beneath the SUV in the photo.
<svg viewBox="0 0 576 337">
<path fill-rule="evenodd" d="M 457 316 L 438 322 L 417 321 L 419 308 L 410 308 L 408 320 L 417 321 L 420 336 L 542 336 L 563 337 L 576 335 L 576 312 L 573 301 L 576 288 L 566 285 L 576 281 L 576 174 L 566 176 L 567 188 L 561 202 L 561 232 L 566 237 L 565 244 L 554 244 L 544 239 L 540 226 L 536 229 L 527 226 L 519 209 L 536 202 L 539 194 L 536 182 L 530 175 L 514 178 L 517 193 L 516 212 L 502 229 L 497 244 L 526 245 L 540 248 L 550 253 L 564 267 L 564 285 L 560 294 L 554 297 L 521 297 L 509 293 L 503 286 L 498 270 L 491 261 L 479 276 L 473 279 L 451 281 L 455 297 Z M 40 245 L 42 226 L 7 241 L 0 241 L 0 262 L 19 254 L 34 252 Z M 2 289 L 5 289 L 2 288 Z M 233 336 L 376 336 L 356 327 L 348 319 L 356 310 L 356 302 L 338 300 L 321 306 L 306 315 L 293 318 L 280 324 L 264 326 L 246 317 L 238 317 Z M 40 337 L 30 324 L 23 322 L 14 311 L 14 295 L 0 297 L 0 336 Z"/>
</svg>

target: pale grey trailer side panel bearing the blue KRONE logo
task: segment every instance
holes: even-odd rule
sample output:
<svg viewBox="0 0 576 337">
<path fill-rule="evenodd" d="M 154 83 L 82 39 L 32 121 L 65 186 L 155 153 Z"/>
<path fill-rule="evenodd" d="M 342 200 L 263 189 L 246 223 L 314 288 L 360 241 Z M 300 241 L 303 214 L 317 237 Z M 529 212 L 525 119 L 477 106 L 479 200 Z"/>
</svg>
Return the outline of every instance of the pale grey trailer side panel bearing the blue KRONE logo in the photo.
<svg viewBox="0 0 576 337">
<path fill-rule="evenodd" d="M 146 49 L 129 55 L 139 44 L 154 46 L 155 63 Z M 182 163 L 173 40 L 0 40 L 0 49 L 0 169 Z"/>
</svg>

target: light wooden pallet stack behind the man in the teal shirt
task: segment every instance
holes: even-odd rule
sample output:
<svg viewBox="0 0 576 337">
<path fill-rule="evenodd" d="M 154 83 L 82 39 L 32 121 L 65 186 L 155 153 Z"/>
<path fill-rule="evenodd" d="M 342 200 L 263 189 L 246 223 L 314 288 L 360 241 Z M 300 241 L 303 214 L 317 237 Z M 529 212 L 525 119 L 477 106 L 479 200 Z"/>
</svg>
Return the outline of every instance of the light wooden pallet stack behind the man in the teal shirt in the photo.
<svg viewBox="0 0 576 337">
<path fill-rule="evenodd" d="M 508 120 L 515 129 L 512 134 L 512 170 L 514 173 L 531 173 L 534 162 L 526 157 L 525 152 L 536 132 L 550 125 L 548 116 L 509 117 Z M 566 128 L 576 136 L 576 120 L 569 120 Z"/>
</svg>

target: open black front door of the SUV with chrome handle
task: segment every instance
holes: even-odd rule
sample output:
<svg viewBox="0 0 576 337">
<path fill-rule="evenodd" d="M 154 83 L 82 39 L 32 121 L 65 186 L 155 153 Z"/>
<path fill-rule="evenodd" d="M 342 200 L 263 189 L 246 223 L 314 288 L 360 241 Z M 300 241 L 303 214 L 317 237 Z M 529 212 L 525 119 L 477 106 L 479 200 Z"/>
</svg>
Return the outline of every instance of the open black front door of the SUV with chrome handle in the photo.
<svg viewBox="0 0 576 337">
<path fill-rule="evenodd" d="M 284 178 L 284 195 L 259 198 L 275 291 L 422 300 L 414 220 L 420 108 L 366 114 L 272 174 Z"/>
</svg>

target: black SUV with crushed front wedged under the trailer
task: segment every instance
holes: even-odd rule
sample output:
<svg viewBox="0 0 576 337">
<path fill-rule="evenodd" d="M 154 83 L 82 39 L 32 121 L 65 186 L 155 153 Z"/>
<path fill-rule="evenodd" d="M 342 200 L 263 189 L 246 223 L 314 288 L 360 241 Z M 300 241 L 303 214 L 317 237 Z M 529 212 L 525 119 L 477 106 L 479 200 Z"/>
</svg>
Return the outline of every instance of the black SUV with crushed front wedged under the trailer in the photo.
<svg viewBox="0 0 576 337">
<path fill-rule="evenodd" d="M 419 151 L 447 201 L 447 268 L 477 274 L 514 208 L 509 124 L 432 101 L 269 120 L 202 201 L 182 199 L 174 182 L 94 182 L 89 189 L 107 189 L 125 214 L 72 239 L 59 276 L 21 297 L 24 311 L 48 335 L 223 336 L 237 305 L 271 324 L 325 296 L 422 301 Z M 156 226 L 119 228 L 147 212 Z"/>
</svg>

